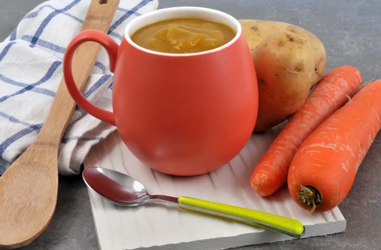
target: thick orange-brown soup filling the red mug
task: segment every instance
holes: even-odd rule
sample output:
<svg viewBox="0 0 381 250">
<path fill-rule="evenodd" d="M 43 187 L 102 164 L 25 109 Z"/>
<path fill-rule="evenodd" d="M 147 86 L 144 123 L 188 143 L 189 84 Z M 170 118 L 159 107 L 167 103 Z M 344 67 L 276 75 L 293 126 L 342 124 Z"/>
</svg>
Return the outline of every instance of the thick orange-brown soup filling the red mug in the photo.
<svg viewBox="0 0 381 250">
<path fill-rule="evenodd" d="M 218 48 L 236 35 L 229 26 L 198 18 L 168 19 L 144 26 L 131 40 L 147 50 L 186 54 Z"/>
</svg>

